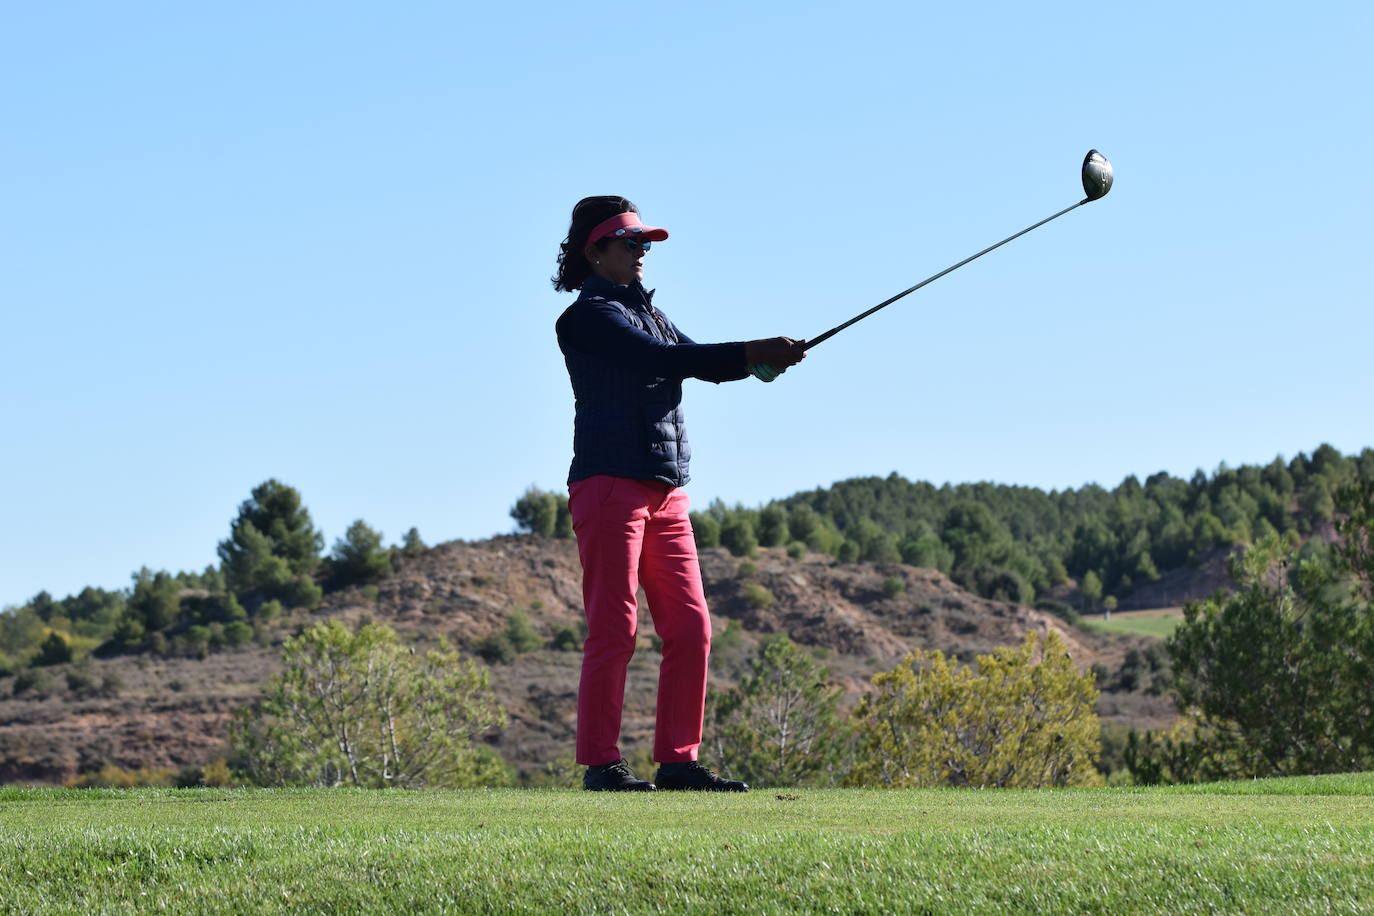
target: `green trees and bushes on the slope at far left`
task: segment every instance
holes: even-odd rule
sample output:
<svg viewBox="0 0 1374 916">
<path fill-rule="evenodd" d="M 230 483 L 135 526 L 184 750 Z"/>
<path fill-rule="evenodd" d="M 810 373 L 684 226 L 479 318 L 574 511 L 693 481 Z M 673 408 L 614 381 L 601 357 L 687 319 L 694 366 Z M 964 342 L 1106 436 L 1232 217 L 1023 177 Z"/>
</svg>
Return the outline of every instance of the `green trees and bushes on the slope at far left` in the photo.
<svg viewBox="0 0 1374 916">
<path fill-rule="evenodd" d="M 128 589 L 85 588 L 56 599 L 38 592 L 0 612 L 0 674 L 85 655 L 154 652 L 205 656 L 262 640 L 267 623 L 317 606 L 327 592 L 390 575 L 425 542 L 414 527 L 386 547 L 359 519 L 324 553 L 301 494 L 275 479 L 253 489 L 201 573 L 140 569 Z"/>
</svg>

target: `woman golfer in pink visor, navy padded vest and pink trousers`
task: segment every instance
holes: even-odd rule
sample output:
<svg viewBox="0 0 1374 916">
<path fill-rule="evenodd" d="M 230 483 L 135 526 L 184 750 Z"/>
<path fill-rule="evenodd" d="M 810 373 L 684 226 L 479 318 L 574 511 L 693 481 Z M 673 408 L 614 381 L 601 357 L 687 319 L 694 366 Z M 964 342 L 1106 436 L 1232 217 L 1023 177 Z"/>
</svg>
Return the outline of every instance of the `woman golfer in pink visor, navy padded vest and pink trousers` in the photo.
<svg viewBox="0 0 1374 916">
<path fill-rule="evenodd" d="M 555 290 L 581 291 L 558 319 L 576 400 L 567 492 L 587 612 L 577 762 L 589 790 L 742 792 L 745 783 L 697 762 L 710 617 L 682 490 L 691 455 L 682 382 L 732 382 L 750 367 L 772 378 L 805 353 L 790 338 L 695 343 L 679 331 L 643 286 L 644 254 L 666 238 L 625 198 L 585 198 L 573 207 L 554 277 Z M 635 777 L 618 747 L 640 585 L 664 645 L 653 783 Z"/>
</svg>

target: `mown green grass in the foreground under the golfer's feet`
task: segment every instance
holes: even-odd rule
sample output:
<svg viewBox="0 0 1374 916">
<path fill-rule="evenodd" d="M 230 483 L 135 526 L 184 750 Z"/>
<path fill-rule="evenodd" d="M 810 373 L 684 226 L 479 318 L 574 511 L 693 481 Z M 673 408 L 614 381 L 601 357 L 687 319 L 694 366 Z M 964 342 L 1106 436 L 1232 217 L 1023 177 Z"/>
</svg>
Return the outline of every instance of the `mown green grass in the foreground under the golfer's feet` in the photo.
<svg viewBox="0 0 1374 916">
<path fill-rule="evenodd" d="M 1374 775 L 1074 791 L 0 790 L 0 912 L 1374 912 Z"/>
</svg>

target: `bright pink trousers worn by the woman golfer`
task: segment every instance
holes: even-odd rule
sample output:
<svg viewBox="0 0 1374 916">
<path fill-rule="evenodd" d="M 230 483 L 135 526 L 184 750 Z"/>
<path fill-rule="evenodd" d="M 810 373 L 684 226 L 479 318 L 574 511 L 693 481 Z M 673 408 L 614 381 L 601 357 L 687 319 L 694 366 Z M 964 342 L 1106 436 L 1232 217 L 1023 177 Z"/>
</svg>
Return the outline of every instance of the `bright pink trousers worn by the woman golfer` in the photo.
<svg viewBox="0 0 1374 916">
<path fill-rule="evenodd" d="M 654 759 L 697 759 L 710 615 L 687 519 L 687 493 L 658 481 L 606 475 L 577 481 L 567 492 L 587 610 L 577 691 L 577 762 L 598 766 L 621 758 L 620 720 L 625 669 L 635 654 L 639 585 L 644 586 L 654 630 L 664 641 Z"/>
</svg>

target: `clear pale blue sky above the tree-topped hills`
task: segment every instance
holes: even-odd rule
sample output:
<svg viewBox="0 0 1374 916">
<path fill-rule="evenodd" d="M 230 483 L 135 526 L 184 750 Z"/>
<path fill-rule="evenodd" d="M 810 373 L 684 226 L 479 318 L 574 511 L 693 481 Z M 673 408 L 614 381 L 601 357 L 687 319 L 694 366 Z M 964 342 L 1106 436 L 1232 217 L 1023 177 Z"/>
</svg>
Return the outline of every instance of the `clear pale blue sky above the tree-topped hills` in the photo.
<svg viewBox="0 0 1374 916">
<path fill-rule="evenodd" d="M 0 606 L 214 562 L 267 478 L 333 544 L 563 485 L 573 203 L 673 236 L 690 493 L 1116 485 L 1374 445 L 1369 4 L 12 4 Z"/>
</svg>

